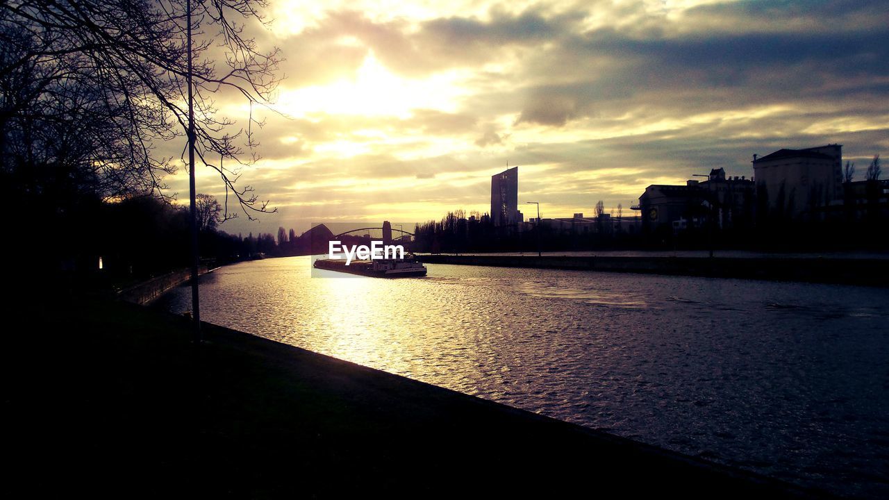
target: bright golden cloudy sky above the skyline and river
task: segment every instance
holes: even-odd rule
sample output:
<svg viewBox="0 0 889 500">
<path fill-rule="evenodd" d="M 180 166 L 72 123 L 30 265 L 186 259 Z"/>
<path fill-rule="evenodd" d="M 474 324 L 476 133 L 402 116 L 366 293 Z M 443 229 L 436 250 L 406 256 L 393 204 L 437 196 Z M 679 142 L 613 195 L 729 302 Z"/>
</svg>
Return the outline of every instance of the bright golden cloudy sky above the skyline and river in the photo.
<svg viewBox="0 0 889 500">
<path fill-rule="evenodd" d="M 269 2 L 281 114 L 254 109 L 241 182 L 278 213 L 229 232 L 484 213 L 508 164 L 519 203 L 559 217 L 749 176 L 754 153 L 838 142 L 862 178 L 889 151 L 885 0 Z M 188 198 L 184 171 L 168 182 Z M 198 191 L 223 194 L 210 172 Z"/>
</svg>

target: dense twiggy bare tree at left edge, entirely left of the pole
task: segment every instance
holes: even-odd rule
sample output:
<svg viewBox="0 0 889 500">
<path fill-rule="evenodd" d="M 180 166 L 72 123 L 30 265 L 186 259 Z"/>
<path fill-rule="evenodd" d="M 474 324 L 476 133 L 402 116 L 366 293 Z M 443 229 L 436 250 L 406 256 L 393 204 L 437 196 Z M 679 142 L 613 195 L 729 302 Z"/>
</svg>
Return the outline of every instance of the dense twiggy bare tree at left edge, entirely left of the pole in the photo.
<svg viewBox="0 0 889 500">
<path fill-rule="evenodd" d="M 164 187 L 174 171 L 152 154 L 150 138 L 168 139 L 163 113 L 133 106 L 103 85 L 108 76 L 62 35 L 37 36 L 0 4 L 0 165 L 25 204 L 64 204 L 60 194 L 112 200 Z M 70 43 L 68 43 L 70 45 Z M 129 90 L 131 74 L 120 77 Z M 56 193 L 52 197 L 46 193 Z M 60 206 L 59 206 L 60 207 Z"/>
</svg>

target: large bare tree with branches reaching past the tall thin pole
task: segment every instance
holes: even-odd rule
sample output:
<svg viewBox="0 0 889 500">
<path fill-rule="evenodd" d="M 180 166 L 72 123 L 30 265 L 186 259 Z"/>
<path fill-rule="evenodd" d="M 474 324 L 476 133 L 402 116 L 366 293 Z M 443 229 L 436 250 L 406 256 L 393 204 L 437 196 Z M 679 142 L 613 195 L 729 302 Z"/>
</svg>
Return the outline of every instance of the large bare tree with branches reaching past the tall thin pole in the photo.
<svg viewBox="0 0 889 500">
<path fill-rule="evenodd" d="M 28 165 L 39 155 L 53 165 L 59 158 L 70 160 L 79 178 L 104 198 L 130 192 L 164 197 L 162 179 L 174 164 L 156 148 L 188 130 L 190 76 L 196 155 L 219 173 L 226 209 L 232 194 L 248 218 L 268 212 L 268 202 L 252 187 L 236 186 L 241 167 L 257 158 L 245 157 L 244 148 L 256 145 L 252 126 L 258 122 L 251 116 L 246 127 L 236 129 L 211 99 L 233 93 L 251 106 L 270 100 L 279 52 L 260 52 L 244 33 L 248 20 L 262 20 L 267 0 L 192 3 L 196 44 L 190 72 L 186 5 L 179 0 L 0 3 L 2 152 L 13 145 L 21 149 L 8 161 Z M 54 134 L 69 139 L 62 142 L 65 149 L 42 138 L 40 124 L 56 125 Z M 86 147 L 78 149 L 76 138 L 85 138 Z"/>
</svg>

